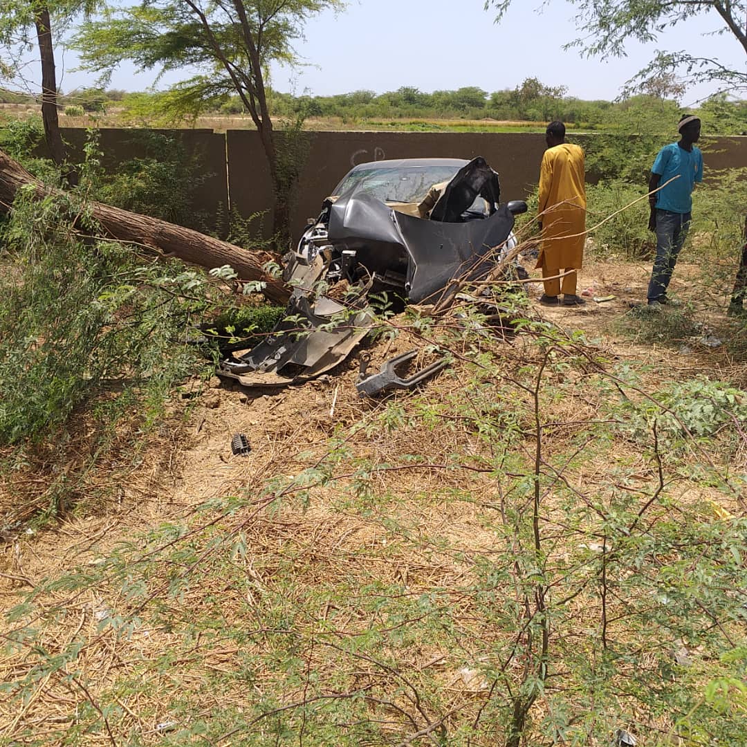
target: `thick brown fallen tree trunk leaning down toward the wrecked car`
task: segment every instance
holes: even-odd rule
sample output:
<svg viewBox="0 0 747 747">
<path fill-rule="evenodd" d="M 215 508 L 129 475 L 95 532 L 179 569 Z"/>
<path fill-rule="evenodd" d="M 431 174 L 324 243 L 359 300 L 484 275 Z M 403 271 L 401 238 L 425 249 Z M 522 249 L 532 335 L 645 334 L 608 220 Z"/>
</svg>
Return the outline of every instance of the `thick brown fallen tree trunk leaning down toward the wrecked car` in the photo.
<svg viewBox="0 0 747 747">
<path fill-rule="evenodd" d="M 52 191 L 34 179 L 18 161 L 0 150 L 0 211 L 10 211 L 16 192 L 25 185 L 32 185 L 40 199 Z M 89 202 L 88 207 L 102 226 L 101 238 L 143 244 L 164 255 L 173 255 L 202 267 L 230 264 L 242 280 L 261 280 L 266 283 L 263 293 L 268 299 L 278 303 L 288 300 L 290 294 L 285 285 L 262 270 L 263 264 L 276 260 L 270 252 L 242 249 L 199 231 L 113 208 L 102 202 Z"/>
</svg>

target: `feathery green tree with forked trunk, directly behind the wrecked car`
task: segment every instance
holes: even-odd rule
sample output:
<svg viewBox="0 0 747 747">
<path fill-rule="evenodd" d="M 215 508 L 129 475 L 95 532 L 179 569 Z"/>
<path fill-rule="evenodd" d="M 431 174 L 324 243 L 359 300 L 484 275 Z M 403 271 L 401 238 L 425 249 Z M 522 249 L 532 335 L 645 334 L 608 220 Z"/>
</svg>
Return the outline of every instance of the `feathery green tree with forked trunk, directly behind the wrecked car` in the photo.
<svg viewBox="0 0 747 747">
<path fill-rule="evenodd" d="M 140 69 L 196 70 L 159 99 L 161 114 L 179 120 L 238 95 L 252 117 L 275 193 L 274 229 L 288 236 L 289 195 L 297 174 L 282 158 L 266 87 L 270 62 L 297 63 L 292 43 L 309 16 L 343 0 L 143 0 L 85 23 L 74 40 L 83 69 L 104 79 L 123 60 Z"/>
</svg>

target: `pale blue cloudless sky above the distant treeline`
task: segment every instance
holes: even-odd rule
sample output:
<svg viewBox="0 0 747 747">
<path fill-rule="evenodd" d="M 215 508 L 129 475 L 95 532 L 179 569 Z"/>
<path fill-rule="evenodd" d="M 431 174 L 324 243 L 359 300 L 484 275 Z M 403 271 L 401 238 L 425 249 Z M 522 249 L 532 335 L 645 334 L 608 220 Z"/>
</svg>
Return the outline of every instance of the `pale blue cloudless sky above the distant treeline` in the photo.
<svg viewBox="0 0 747 747">
<path fill-rule="evenodd" d="M 630 43 L 626 58 L 610 61 L 563 51 L 563 44 L 579 35 L 574 7 L 565 0 L 551 0 L 545 7 L 542 0 L 514 0 L 500 25 L 494 18 L 495 12 L 483 9 L 483 0 L 350 0 L 342 13 L 322 13 L 307 23 L 306 38 L 296 46 L 305 65 L 273 66 L 270 82 L 282 92 L 329 96 L 402 86 L 424 92 L 477 86 L 490 93 L 539 78 L 546 85 L 568 87 L 568 96 L 612 100 L 657 49 L 688 49 L 717 56 L 732 68 L 746 66 L 734 37 L 704 35 L 723 25 L 716 13 L 678 24 L 658 44 Z M 64 91 L 93 84 L 90 75 L 72 71 L 75 63 L 71 52 L 58 59 Z M 137 75 L 123 64 L 111 87 L 146 90 L 154 78 L 153 72 Z M 159 87 L 176 79 L 164 77 Z M 695 103 L 712 92 L 713 87 L 690 88 L 681 103 Z"/>
</svg>

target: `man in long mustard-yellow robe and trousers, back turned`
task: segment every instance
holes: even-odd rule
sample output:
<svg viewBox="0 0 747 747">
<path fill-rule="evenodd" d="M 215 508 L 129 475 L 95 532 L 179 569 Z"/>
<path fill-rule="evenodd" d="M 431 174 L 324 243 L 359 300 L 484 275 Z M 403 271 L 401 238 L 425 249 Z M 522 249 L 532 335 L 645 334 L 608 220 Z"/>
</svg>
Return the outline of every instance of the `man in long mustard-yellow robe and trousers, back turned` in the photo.
<svg viewBox="0 0 747 747">
<path fill-rule="evenodd" d="M 539 303 L 558 306 L 562 290 L 563 306 L 580 306 L 586 301 L 576 294 L 577 272 L 583 260 L 586 241 L 586 188 L 583 150 L 565 142 L 565 125 L 551 122 L 545 131 L 548 149 L 539 170 L 539 220 L 542 248 L 536 267 L 542 267 L 543 278 L 560 275 L 560 268 L 570 273 L 560 279 L 544 280 L 545 293 Z"/>
</svg>

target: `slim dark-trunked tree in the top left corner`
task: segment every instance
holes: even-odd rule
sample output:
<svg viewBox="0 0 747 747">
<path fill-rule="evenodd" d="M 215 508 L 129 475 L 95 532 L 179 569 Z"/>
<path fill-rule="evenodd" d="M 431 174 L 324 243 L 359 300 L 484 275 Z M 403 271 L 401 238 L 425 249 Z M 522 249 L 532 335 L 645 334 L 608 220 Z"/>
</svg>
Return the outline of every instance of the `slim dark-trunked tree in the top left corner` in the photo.
<svg viewBox="0 0 747 747">
<path fill-rule="evenodd" d="M 62 29 L 79 13 L 93 13 L 102 6 L 101 0 L 4 0 L 0 7 L 0 44 L 6 49 L 28 52 L 35 43 L 39 49 L 42 73 L 42 120 L 49 154 L 62 166 L 66 149 L 58 120 L 57 72 L 52 28 Z M 13 75 L 17 66 L 7 63 L 0 74 Z M 75 171 L 67 174 L 75 182 Z"/>
</svg>

